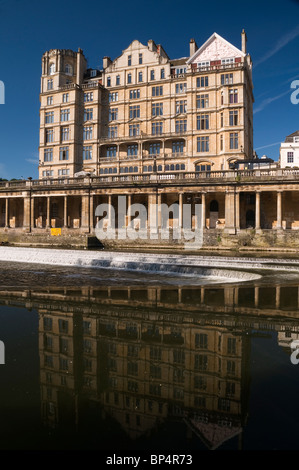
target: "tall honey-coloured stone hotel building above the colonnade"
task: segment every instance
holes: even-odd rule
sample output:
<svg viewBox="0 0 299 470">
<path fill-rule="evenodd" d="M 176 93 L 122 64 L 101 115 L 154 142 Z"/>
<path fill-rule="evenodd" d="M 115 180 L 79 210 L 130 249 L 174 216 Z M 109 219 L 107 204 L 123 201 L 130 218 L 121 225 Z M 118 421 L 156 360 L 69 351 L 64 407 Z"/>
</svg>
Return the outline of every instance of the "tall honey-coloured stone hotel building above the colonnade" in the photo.
<svg viewBox="0 0 299 470">
<path fill-rule="evenodd" d="M 252 63 L 217 33 L 171 60 L 133 41 L 103 69 L 81 49 L 42 58 L 40 178 L 81 172 L 165 174 L 228 170 L 253 155 Z M 83 173 L 83 174 L 84 174 Z"/>
</svg>

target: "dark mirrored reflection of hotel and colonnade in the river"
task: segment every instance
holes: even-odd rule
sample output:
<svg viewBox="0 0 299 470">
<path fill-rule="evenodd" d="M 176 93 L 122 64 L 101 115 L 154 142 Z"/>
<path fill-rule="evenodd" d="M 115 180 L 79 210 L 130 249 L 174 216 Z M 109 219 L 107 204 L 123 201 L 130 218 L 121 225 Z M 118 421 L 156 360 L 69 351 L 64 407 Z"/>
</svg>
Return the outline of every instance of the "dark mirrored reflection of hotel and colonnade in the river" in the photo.
<svg viewBox="0 0 299 470">
<path fill-rule="evenodd" d="M 248 419 L 252 336 L 298 338 L 298 287 L 90 288 L 2 292 L 39 312 L 41 413 L 80 427 L 87 412 L 131 440 L 183 422 L 209 449 Z M 89 411 L 88 411 L 89 410 Z"/>
</svg>

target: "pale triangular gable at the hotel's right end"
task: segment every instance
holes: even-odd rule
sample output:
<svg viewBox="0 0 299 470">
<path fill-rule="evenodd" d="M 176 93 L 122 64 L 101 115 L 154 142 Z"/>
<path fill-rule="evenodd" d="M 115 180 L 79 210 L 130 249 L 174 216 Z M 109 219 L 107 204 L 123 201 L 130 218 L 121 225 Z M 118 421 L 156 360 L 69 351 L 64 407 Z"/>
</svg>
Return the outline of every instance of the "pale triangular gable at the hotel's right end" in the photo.
<svg viewBox="0 0 299 470">
<path fill-rule="evenodd" d="M 214 33 L 209 39 L 190 57 L 187 64 L 220 60 L 231 57 L 245 57 L 246 54 L 233 46 L 219 34 Z"/>
</svg>

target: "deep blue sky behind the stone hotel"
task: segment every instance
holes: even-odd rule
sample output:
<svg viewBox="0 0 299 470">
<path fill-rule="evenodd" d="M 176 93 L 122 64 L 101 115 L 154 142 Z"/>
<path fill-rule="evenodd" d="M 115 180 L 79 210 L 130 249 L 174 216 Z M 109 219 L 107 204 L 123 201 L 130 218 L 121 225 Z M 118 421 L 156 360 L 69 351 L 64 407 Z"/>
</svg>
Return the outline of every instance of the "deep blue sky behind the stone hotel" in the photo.
<svg viewBox="0 0 299 470">
<path fill-rule="evenodd" d="M 162 44 L 169 57 L 189 54 L 217 32 L 253 60 L 254 147 L 279 156 L 279 142 L 299 129 L 299 0 L 261 2 L 189 0 L 0 0 L 0 177 L 38 177 L 41 57 L 49 49 L 81 47 L 91 67 L 121 54 L 134 39 Z"/>
</svg>

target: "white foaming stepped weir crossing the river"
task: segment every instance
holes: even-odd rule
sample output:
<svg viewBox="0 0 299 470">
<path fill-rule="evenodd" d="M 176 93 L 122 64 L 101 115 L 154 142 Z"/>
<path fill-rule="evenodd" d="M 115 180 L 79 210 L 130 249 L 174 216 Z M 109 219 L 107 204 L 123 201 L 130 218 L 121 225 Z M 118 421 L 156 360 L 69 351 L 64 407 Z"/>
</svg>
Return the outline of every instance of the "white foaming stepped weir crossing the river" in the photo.
<svg viewBox="0 0 299 470">
<path fill-rule="evenodd" d="M 296 259 L 1 247 L 0 260 L 150 275 L 181 276 L 192 279 L 192 281 L 202 278 L 220 282 L 251 281 L 260 279 L 262 274 L 267 271 L 299 275 L 299 260 Z"/>
</svg>

